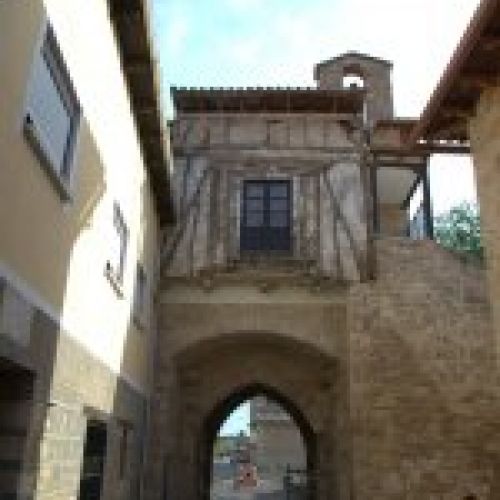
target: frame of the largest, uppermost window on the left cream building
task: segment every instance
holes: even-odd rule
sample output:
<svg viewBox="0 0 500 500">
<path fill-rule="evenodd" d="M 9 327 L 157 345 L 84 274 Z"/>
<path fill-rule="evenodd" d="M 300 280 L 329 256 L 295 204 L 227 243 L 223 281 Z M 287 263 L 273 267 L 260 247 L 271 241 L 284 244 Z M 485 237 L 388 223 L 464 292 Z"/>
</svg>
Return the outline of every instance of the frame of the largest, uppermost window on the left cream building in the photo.
<svg viewBox="0 0 500 500">
<path fill-rule="evenodd" d="M 62 106 L 68 113 L 69 129 L 64 139 L 64 153 L 60 165 L 56 165 L 45 150 L 42 139 L 44 127 L 37 125 L 33 110 L 30 109 L 30 96 L 39 90 L 35 78 L 35 66 L 44 64 L 50 74 L 54 89 L 59 95 Z M 23 111 L 23 132 L 27 142 L 37 156 L 41 166 L 52 181 L 55 189 L 64 201 L 72 197 L 75 174 L 76 147 L 82 109 L 73 82 L 58 44 L 52 25 L 47 22 L 43 30 L 42 41 L 32 61 L 32 77 L 28 83 L 27 97 Z"/>
</svg>

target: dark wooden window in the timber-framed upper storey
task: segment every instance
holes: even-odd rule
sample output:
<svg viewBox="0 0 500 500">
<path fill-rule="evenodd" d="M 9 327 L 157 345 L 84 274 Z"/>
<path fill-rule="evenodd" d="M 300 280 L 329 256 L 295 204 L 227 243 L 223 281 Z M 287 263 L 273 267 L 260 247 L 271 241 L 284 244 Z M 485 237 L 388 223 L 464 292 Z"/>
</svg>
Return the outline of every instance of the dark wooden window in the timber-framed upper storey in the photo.
<svg viewBox="0 0 500 500">
<path fill-rule="evenodd" d="M 241 220 L 242 251 L 289 252 L 290 212 L 290 181 L 245 181 Z"/>
</svg>

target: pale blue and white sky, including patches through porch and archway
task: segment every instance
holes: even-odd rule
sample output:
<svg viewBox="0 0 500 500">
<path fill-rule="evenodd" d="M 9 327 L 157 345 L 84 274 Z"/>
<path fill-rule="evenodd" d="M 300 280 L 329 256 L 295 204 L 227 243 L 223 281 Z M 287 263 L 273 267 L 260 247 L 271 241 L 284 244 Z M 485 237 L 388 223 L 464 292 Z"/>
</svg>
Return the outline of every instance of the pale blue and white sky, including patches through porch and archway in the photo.
<svg viewBox="0 0 500 500">
<path fill-rule="evenodd" d="M 150 0 L 163 99 L 171 85 L 312 86 L 347 50 L 394 62 L 396 114 L 418 116 L 479 0 Z M 474 199 L 468 159 L 432 160 L 434 210 Z M 248 406 L 225 432 L 245 428 Z"/>
</svg>

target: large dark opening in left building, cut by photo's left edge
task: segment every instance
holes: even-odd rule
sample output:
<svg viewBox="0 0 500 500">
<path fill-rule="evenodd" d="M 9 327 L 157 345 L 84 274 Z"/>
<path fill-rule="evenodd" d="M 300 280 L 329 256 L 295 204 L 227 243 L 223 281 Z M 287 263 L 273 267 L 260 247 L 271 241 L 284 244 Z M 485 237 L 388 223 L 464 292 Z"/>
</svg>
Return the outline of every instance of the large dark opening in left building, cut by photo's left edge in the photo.
<svg viewBox="0 0 500 500">
<path fill-rule="evenodd" d="M 17 498 L 33 408 L 33 374 L 0 358 L 0 498 Z"/>
</svg>

